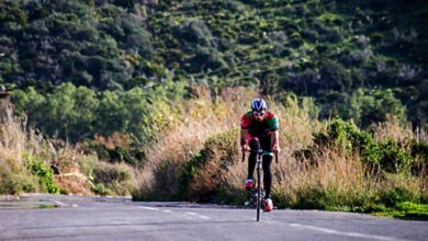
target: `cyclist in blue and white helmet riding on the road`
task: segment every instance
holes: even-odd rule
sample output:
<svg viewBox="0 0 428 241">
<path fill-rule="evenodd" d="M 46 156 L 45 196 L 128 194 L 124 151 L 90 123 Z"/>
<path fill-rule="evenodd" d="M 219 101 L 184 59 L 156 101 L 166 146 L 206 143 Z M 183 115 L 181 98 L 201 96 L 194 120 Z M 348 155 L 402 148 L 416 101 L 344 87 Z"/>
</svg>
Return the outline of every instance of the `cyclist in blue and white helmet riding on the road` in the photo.
<svg viewBox="0 0 428 241">
<path fill-rule="evenodd" d="M 254 187 L 252 174 L 256 168 L 257 151 L 261 148 L 266 154 L 262 159 L 263 168 L 263 186 L 264 186 L 264 210 L 273 209 L 271 198 L 272 186 L 272 159 L 273 153 L 280 152 L 279 147 L 279 122 L 278 117 L 267 111 L 268 105 L 261 97 L 256 97 L 251 101 L 251 111 L 247 112 L 240 118 L 240 147 L 245 152 L 250 149 L 248 157 L 248 179 L 245 182 L 245 187 L 250 190 Z"/>
</svg>

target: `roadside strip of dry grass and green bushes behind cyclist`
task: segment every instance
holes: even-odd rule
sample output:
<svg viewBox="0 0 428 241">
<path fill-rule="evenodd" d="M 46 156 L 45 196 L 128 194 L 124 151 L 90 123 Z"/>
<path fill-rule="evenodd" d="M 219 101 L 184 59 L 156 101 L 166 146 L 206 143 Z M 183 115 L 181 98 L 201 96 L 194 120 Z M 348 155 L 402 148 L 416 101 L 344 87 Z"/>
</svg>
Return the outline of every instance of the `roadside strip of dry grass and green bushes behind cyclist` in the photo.
<svg viewBox="0 0 428 241">
<path fill-rule="evenodd" d="M 222 94 L 214 102 L 201 94 L 183 102 L 180 110 L 169 108 L 169 116 L 182 119 L 171 122 L 162 135 L 143 147 L 145 154 L 139 165 L 112 154 L 120 153 L 117 147 L 125 150 L 131 147 L 126 136 L 116 134 L 90 144 L 64 146 L 54 140 L 37 140 L 32 131 L 24 134 L 15 120 L 3 126 L 2 134 L 8 138 L 2 142 L 0 157 L 25 161 L 29 159 L 25 153 L 30 152 L 33 153 L 30 159 L 37 160 L 42 170 L 46 164 L 41 164 L 41 160 L 56 165 L 60 174 L 54 177 L 63 193 L 132 193 L 134 199 L 240 205 L 246 198 L 241 186 L 247 169 L 240 162 L 237 126 L 239 115 L 247 110 L 241 103 L 249 102 L 257 93 L 235 89 L 224 90 Z M 288 96 L 282 104 L 273 100 L 270 103 L 280 117 L 283 148 L 281 161 L 273 165 L 273 198 L 280 208 L 427 218 L 426 137 L 416 138 L 412 128 L 402 126 L 397 118 L 378 125 L 374 133 L 341 119 L 322 123 L 311 117 L 314 103 L 295 95 Z M 91 145 L 103 148 L 91 148 Z M 108 154 L 103 156 L 103 151 Z M 10 164 L 5 161 L 7 169 L 2 172 L 10 170 Z M 20 190 L 15 187 L 11 192 L 2 187 L 2 192 L 43 191 L 32 187 L 43 186 L 36 181 L 41 176 L 38 172 L 20 167 L 15 165 L 18 172 L 9 173 L 9 180 L 15 180 Z M 20 180 L 22 173 L 29 173 L 30 181 Z M 67 180 L 70 175 L 74 179 Z M 8 182 L 3 176 L 2 183 Z"/>
</svg>

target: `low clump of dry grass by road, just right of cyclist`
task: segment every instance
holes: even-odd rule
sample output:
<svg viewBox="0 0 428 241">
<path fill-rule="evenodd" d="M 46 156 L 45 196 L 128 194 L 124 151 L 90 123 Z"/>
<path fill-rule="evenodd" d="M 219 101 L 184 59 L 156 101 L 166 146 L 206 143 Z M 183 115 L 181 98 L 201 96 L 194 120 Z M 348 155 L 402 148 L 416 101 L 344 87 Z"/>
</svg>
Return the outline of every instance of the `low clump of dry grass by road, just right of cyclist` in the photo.
<svg viewBox="0 0 428 241">
<path fill-rule="evenodd" d="M 279 206 L 333 209 L 365 198 L 373 180 L 364 174 L 358 157 L 326 149 L 315 159 L 316 165 L 291 159 L 278 167 L 274 193 Z"/>
</svg>

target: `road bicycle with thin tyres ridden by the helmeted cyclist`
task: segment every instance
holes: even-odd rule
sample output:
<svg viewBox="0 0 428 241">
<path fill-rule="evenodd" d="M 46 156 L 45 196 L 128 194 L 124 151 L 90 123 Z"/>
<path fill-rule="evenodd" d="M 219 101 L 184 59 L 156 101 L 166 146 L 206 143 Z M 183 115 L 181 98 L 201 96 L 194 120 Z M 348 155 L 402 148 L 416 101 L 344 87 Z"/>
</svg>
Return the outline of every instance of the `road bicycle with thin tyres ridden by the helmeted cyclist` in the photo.
<svg viewBox="0 0 428 241">
<path fill-rule="evenodd" d="M 256 206 L 257 210 L 257 218 L 256 220 L 260 220 L 260 209 L 264 208 L 263 198 L 263 186 L 262 186 L 262 160 L 263 156 L 269 154 L 268 152 L 264 152 L 262 149 L 259 149 L 257 151 L 257 159 L 256 159 L 256 187 L 248 191 L 248 200 L 245 203 L 245 206 L 247 207 L 254 207 Z M 243 152 L 243 162 L 245 162 L 245 152 Z M 275 163 L 278 163 L 278 154 L 275 154 Z"/>
</svg>

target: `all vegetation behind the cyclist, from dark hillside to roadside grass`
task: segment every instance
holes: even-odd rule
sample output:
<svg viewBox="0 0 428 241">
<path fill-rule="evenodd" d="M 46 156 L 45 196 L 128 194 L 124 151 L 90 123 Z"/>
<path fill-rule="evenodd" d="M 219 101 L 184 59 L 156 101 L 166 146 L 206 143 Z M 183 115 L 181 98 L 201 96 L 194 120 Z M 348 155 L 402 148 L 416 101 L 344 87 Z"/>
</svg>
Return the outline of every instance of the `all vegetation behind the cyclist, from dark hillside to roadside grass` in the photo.
<svg viewBox="0 0 428 241">
<path fill-rule="evenodd" d="M 0 110 L 0 193 L 241 204 L 238 120 L 262 95 L 281 122 L 279 207 L 426 219 L 427 13 L 423 0 L 2 1 L 14 108 Z"/>
</svg>

